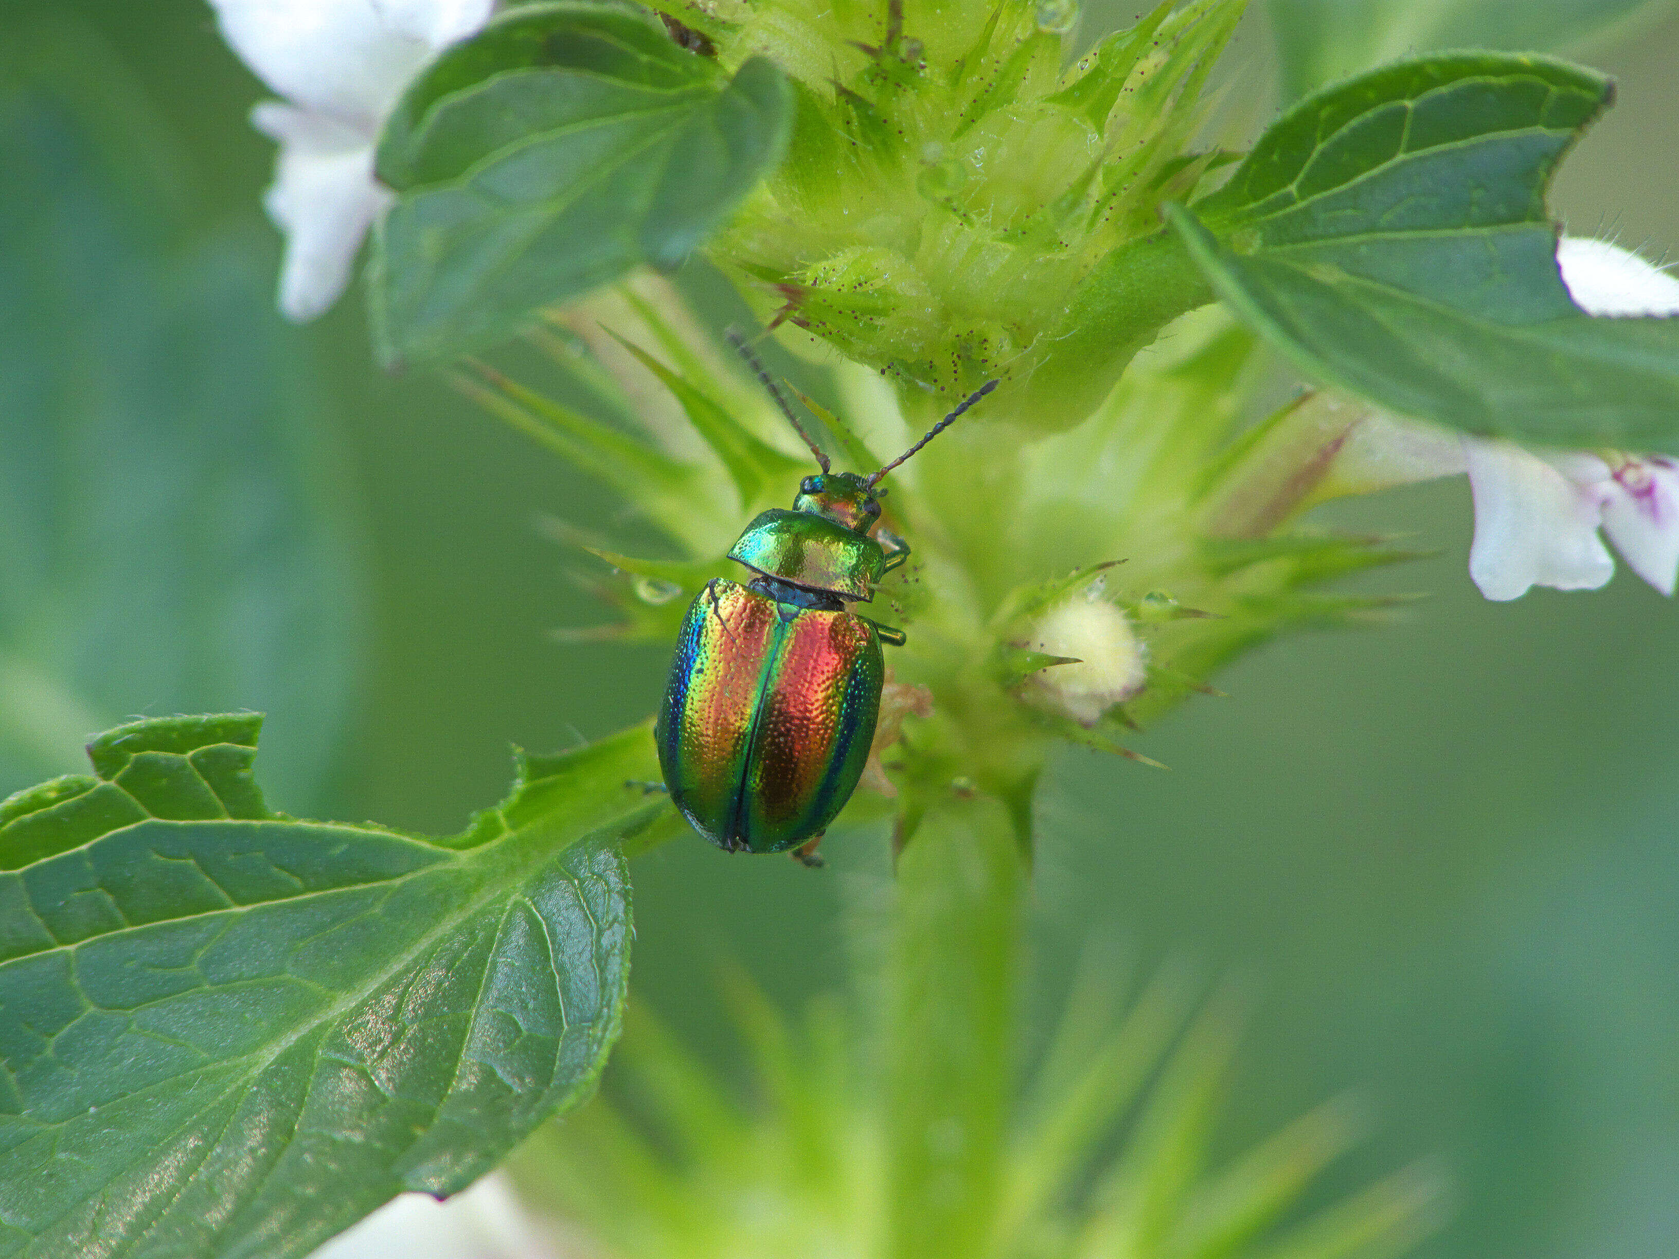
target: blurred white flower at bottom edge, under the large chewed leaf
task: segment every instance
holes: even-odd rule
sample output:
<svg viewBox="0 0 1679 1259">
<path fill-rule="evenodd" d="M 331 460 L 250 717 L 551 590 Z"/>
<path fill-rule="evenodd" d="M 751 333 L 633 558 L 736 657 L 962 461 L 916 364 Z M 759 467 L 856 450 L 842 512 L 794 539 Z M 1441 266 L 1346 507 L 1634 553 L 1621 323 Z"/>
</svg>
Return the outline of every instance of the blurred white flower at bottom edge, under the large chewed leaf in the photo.
<svg viewBox="0 0 1679 1259">
<path fill-rule="evenodd" d="M 401 1194 L 329 1241 L 311 1259 L 559 1259 L 499 1172 L 438 1202 Z"/>
</svg>

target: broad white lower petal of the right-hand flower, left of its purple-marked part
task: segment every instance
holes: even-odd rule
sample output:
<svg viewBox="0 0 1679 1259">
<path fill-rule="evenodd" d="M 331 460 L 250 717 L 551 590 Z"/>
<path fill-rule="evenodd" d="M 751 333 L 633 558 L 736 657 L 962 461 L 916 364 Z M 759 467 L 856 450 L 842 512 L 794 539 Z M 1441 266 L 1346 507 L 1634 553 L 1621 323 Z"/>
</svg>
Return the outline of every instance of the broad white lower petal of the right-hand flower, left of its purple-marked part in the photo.
<svg viewBox="0 0 1679 1259">
<path fill-rule="evenodd" d="M 1509 441 L 1464 440 L 1474 490 L 1469 576 L 1489 599 L 1531 586 L 1597 589 L 1615 572 L 1597 535 L 1602 492 Z"/>
</svg>

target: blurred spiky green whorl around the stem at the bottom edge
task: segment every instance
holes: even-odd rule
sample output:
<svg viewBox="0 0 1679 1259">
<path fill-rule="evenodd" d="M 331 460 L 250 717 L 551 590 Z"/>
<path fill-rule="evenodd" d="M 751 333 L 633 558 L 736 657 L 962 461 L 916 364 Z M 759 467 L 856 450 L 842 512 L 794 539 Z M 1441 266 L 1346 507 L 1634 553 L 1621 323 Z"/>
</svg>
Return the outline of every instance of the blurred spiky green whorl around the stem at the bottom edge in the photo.
<svg viewBox="0 0 1679 1259">
<path fill-rule="evenodd" d="M 1006 1130 L 991 1194 L 967 1204 L 969 1219 L 950 1220 L 939 1204 L 964 1185 L 918 1182 L 925 1195 L 910 1202 L 895 1180 L 902 1168 L 888 1150 L 900 1121 L 890 1084 L 860 1051 L 871 1044 L 863 1029 L 826 1002 L 789 1027 L 737 977 L 727 990 L 749 1096 L 631 1007 L 606 1093 L 544 1128 L 510 1170 L 532 1202 L 574 1220 L 615 1259 L 1392 1259 L 1437 1227 L 1441 1185 L 1425 1167 L 1305 1209 L 1367 1128 L 1350 1100 L 1214 1163 L 1236 1002 L 1222 995 L 1197 1009 L 1175 972 L 1123 997 L 1122 975 L 1091 950 L 1026 1086 L 1014 1089 L 1007 1073 L 967 1078 L 984 1098 L 942 1100 L 989 1108 Z M 960 1027 L 932 1034 L 955 1037 Z M 960 1093 L 955 1081 L 928 1078 L 928 1088 Z M 917 1113 L 939 1101 L 923 1100 Z M 920 1135 L 964 1157 L 959 1126 Z M 898 1204 L 925 1217 L 907 1219 Z M 955 1227 L 940 1234 L 940 1220 Z"/>
</svg>

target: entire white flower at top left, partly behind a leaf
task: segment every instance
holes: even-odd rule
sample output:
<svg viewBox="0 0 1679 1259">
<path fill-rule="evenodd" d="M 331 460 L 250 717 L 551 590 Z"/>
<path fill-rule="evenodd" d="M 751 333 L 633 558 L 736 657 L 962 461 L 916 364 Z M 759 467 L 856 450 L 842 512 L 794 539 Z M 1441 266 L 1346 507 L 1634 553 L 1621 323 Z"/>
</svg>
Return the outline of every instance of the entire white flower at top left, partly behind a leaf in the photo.
<svg viewBox="0 0 1679 1259">
<path fill-rule="evenodd" d="M 373 178 L 379 128 L 415 74 L 482 27 L 495 0 L 210 0 L 222 35 L 289 104 L 252 124 L 280 144 L 264 205 L 285 233 L 280 311 L 322 314 L 391 201 Z"/>
</svg>

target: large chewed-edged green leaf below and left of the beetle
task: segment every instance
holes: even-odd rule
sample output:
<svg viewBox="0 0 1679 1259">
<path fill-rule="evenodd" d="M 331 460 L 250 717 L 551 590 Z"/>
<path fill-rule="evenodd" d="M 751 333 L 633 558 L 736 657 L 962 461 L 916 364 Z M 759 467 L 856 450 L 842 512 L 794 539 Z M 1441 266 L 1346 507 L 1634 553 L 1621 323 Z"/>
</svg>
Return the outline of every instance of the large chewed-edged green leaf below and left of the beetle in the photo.
<svg viewBox="0 0 1679 1259">
<path fill-rule="evenodd" d="M 302 1256 L 594 1086 L 648 729 L 430 839 L 270 812 L 259 725 L 119 727 L 0 804 L 0 1256 Z"/>
</svg>

